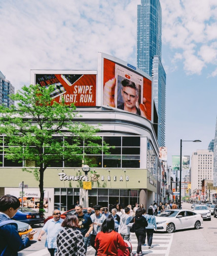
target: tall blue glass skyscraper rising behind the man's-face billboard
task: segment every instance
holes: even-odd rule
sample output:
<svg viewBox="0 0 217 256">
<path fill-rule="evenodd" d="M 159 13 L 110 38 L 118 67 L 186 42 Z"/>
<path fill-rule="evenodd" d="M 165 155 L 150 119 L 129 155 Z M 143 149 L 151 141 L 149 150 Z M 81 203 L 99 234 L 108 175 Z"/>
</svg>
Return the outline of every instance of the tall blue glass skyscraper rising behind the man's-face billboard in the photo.
<svg viewBox="0 0 217 256">
<path fill-rule="evenodd" d="M 165 146 L 166 73 L 161 63 L 162 11 L 159 0 L 141 0 L 137 9 L 137 67 L 153 77 L 158 143 Z"/>
</svg>

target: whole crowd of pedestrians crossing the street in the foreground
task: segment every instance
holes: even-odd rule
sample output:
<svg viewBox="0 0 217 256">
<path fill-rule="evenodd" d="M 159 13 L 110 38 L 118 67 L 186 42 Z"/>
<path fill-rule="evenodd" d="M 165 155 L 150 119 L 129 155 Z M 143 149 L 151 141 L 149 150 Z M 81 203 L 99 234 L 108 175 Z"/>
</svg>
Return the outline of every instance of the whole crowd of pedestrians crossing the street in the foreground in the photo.
<svg viewBox="0 0 217 256">
<path fill-rule="evenodd" d="M 7 195 L 0 198 L 0 219 L 10 220 L 19 208 L 19 200 L 13 196 Z M 1 203 L 2 202 L 2 203 Z M 4 205 L 3 205 L 4 203 Z M 79 202 L 78 202 L 79 203 Z M 2 205 L 1 205 L 2 204 Z M 154 231 L 157 230 L 155 216 L 161 212 L 169 209 L 176 209 L 175 202 L 159 205 L 154 203 L 150 205 L 148 211 L 143 204 L 135 204 L 132 209 L 128 205 L 124 209 L 120 204 L 110 206 L 110 211 L 107 207 L 95 205 L 87 208 L 87 213 L 83 212 L 83 207 L 80 204 L 75 205 L 76 214 L 67 214 L 65 219 L 60 218 L 60 211 L 58 209 L 52 212 L 53 218 L 49 219 L 42 228 L 38 240 L 42 240 L 42 236 L 46 236 L 46 247 L 51 256 L 69 256 L 81 255 L 85 256 L 87 247 L 92 246 L 96 252 L 95 255 L 103 256 L 117 255 L 118 250 L 125 251 L 127 248 L 124 240 L 130 240 L 130 232 L 132 226 L 138 241 L 136 256 L 142 253 L 141 246 L 147 244 L 152 248 L 152 240 Z M 0 252 L 5 250 L 4 255 L 17 255 L 17 251 L 29 246 L 29 238 L 34 233 L 30 233 L 22 240 L 17 232 L 16 225 L 8 222 L 5 227 L 1 227 L 0 234 L 10 227 L 10 232 L 13 231 L 13 236 L 16 238 L 17 247 L 10 247 L 5 241 L 0 242 Z M 9 233 L 11 236 L 11 234 Z M 12 252 L 13 250 L 16 250 Z M 7 253 L 9 252 L 10 253 Z"/>
</svg>

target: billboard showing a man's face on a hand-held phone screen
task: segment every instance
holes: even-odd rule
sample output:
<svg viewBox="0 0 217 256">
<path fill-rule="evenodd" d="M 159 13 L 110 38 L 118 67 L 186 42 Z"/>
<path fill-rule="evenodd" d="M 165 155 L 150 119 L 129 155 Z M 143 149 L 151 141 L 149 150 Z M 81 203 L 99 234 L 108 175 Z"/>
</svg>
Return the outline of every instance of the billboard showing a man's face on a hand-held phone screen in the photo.
<svg viewBox="0 0 217 256">
<path fill-rule="evenodd" d="M 152 78 L 120 59 L 100 56 L 102 105 L 152 120 Z"/>
</svg>

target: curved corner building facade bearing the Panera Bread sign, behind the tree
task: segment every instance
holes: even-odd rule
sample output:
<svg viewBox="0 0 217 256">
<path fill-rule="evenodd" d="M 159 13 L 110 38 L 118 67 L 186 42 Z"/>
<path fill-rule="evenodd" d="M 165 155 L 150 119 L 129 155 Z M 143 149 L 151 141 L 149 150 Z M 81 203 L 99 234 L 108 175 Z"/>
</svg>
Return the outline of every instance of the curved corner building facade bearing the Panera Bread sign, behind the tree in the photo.
<svg viewBox="0 0 217 256">
<path fill-rule="evenodd" d="M 94 155 L 90 148 L 84 148 L 85 157 L 92 159 L 88 180 L 92 189 L 88 190 L 89 206 L 96 204 L 109 207 L 120 203 L 123 207 L 136 202 L 147 208 L 154 201 L 162 200 L 162 175 L 159 161 L 158 142 L 151 122 L 136 114 L 114 111 L 109 108 L 77 109 L 81 118 L 88 124 L 101 124 L 98 135 L 115 148 L 110 154 Z M 97 118 L 96 118 L 97 117 Z M 60 138 L 58 138 L 60 139 Z M 64 140 L 64 138 L 62 138 Z M 82 146 L 82 145 L 81 145 Z M 13 194 L 21 197 L 19 183 L 24 181 L 24 201 L 33 201 L 37 209 L 39 202 L 39 182 L 31 173 L 23 172 L 26 162 L 18 164 L 5 158 L 7 147 L 2 138 L 0 194 Z M 34 166 L 33 163 L 31 163 Z M 28 163 L 29 165 L 29 163 Z M 13 177 L 13 178 L 12 178 Z M 165 174 L 166 178 L 166 174 Z M 62 161 L 51 164 L 45 171 L 45 210 L 69 210 L 79 200 L 84 203 L 82 162 Z M 165 181 L 163 181 L 165 182 Z"/>
</svg>

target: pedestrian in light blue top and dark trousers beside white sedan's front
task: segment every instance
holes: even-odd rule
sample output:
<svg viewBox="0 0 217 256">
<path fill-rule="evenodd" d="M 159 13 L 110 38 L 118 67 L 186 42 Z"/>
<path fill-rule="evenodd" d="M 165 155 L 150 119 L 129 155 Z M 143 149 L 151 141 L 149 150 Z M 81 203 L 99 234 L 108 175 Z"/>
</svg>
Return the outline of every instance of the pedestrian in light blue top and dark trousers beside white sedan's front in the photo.
<svg viewBox="0 0 217 256">
<path fill-rule="evenodd" d="M 153 239 L 154 229 L 157 230 L 156 218 L 155 218 L 155 215 L 153 214 L 152 208 L 148 209 L 148 213 L 146 214 L 145 217 L 148 222 L 148 226 L 146 228 L 148 246 L 149 248 L 152 248 L 152 239 Z"/>
</svg>

